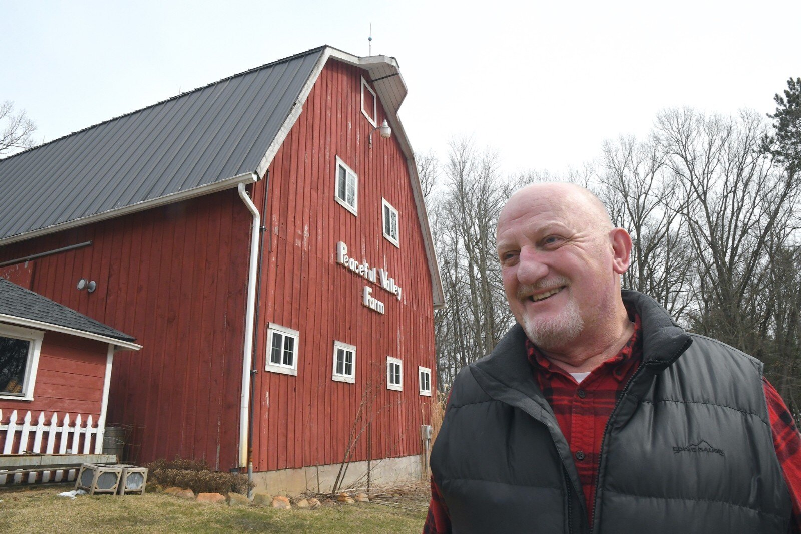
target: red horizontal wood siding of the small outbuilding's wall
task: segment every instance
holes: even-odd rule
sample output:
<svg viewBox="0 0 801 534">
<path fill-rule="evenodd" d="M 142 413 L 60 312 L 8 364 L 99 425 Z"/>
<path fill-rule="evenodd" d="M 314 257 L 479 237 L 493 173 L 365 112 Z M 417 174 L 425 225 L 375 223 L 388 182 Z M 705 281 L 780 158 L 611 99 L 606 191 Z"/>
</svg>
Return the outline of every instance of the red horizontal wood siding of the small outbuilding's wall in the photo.
<svg viewBox="0 0 801 534">
<path fill-rule="evenodd" d="M 34 384 L 34 400 L 0 399 L 0 410 L 44 413 L 48 422 L 54 412 L 62 418 L 69 412 L 74 419 L 89 415 L 95 421 L 103 404 L 103 378 L 106 375 L 108 345 L 91 339 L 57 332 L 45 332 Z M 6 423 L 6 420 L 0 421 Z M 61 423 L 61 419 L 58 419 Z"/>
</svg>

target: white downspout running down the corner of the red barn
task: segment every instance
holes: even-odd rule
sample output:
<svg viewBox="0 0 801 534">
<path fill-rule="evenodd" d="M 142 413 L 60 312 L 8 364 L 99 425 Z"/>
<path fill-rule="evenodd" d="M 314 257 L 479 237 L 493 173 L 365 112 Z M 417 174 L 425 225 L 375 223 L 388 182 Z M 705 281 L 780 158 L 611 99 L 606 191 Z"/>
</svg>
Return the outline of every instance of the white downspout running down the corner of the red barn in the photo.
<svg viewBox="0 0 801 534">
<path fill-rule="evenodd" d="M 250 382 L 253 354 L 253 317 L 256 310 L 256 268 L 259 263 L 259 229 L 261 217 L 253 204 L 245 184 L 239 184 L 239 198 L 253 215 L 251 232 L 251 255 L 248 266 L 248 303 L 245 310 L 245 342 L 242 355 L 242 396 L 239 398 L 239 467 L 248 463 L 248 408 L 250 404 Z"/>
</svg>

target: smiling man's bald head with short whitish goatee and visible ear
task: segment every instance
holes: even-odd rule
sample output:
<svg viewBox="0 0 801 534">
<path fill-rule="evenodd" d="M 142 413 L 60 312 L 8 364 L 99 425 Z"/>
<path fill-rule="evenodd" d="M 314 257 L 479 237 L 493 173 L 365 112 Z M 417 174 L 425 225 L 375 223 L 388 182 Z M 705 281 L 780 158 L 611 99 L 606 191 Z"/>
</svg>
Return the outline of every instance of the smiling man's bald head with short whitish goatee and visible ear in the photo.
<svg viewBox="0 0 801 534">
<path fill-rule="evenodd" d="M 589 345 L 614 330 L 630 238 L 586 189 L 516 192 L 498 219 L 497 252 L 509 308 L 541 349 Z"/>
</svg>

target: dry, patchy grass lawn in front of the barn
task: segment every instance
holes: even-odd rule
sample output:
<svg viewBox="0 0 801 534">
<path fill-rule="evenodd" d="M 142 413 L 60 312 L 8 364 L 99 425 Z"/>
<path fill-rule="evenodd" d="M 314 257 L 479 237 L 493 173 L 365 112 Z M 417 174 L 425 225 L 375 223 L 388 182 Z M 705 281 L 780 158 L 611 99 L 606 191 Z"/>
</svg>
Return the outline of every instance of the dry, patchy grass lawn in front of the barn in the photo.
<svg viewBox="0 0 801 534">
<path fill-rule="evenodd" d="M 59 497 L 71 486 L 0 491 L 0 532 L 421 532 L 424 496 L 405 510 L 379 504 L 324 504 L 317 510 L 231 508 L 163 494 Z"/>
</svg>

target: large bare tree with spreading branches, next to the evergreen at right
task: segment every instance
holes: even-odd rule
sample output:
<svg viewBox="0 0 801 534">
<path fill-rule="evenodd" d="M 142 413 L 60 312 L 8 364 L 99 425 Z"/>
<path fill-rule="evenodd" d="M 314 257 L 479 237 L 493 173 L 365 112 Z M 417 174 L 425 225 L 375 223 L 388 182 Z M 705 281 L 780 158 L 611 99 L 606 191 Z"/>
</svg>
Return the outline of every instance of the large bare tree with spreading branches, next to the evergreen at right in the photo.
<svg viewBox="0 0 801 534">
<path fill-rule="evenodd" d="M 757 353 L 771 237 L 791 224 L 799 186 L 759 150 L 767 124 L 690 109 L 659 115 L 658 135 L 674 179 L 686 195 L 682 219 L 697 262 L 690 326 Z"/>
</svg>

